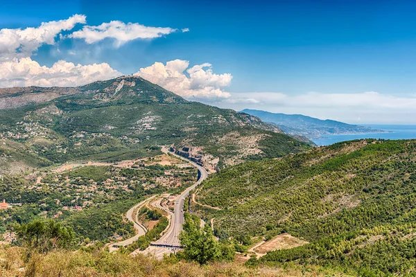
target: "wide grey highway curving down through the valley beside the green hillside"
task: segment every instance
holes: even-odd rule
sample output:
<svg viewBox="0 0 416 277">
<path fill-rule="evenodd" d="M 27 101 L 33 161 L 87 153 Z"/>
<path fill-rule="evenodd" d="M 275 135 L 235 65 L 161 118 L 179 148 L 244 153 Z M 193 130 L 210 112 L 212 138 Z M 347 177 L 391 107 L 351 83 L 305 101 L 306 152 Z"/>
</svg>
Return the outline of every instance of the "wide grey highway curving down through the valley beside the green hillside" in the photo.
<svg viewBox="0 0 416 277">
<path fill-rule="evenodd" d="M 184 224 L 184 200 L 189 195 L 189 192 L 196 188 L 199 184 L 202 183 L 205 179 L 208 177 L 208 172 L 203 168 L 202 166 L 199 166 L 198 164 L 194 163 L 193 161 L 189 161 L 189 159 L 186 159 L 184 157 L 181 157 L 175 153 L 169 152 L 168 148 L 162 148 L 162 152 L 165 154 L 170 153 L 173 154 L 175 157 L 180 158 L 184 161 L 187 161 L 188 163 L 191 163 L 192 166 L 195 166 L 198 171 L 200 172 L 200 178 L 198 181 L 196 181 L 195 184 L 184 190 L 184 192 L 177 197 L 175 201 L 175 209 L 173 211 L 172 215 L 172 224 L 169 227 L 168 231 L 162 235 L 162 238 L 157 240 L 155 244 L 165 244 L 165 245 L 172 245 L 172 246 L 180 246 L 180 240 L 179 235 L 182 231 L 182 225 Z"/>
</svg>

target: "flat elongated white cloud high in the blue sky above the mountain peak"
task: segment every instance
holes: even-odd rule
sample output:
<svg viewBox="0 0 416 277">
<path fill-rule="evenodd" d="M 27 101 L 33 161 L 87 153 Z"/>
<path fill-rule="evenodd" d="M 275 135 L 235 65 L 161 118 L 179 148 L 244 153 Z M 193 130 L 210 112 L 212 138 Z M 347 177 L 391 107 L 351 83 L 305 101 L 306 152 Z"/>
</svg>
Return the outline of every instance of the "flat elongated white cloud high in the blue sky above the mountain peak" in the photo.
<svg viewBox="0 0 416 277">
<path fill-rule="evenodd" d="M 82 30 L 73 32 L 69 37 L 85 39 L 93 44 L 106 38 L 115 39 L 114 46 L 119 47 L 134 39 L 153 39 L 175 32 L 177 29 L 148 27 L 137 23 L 125 24 L 121 21 L 110 21 L 98 26 L 84 26 Z"/>
</svg>

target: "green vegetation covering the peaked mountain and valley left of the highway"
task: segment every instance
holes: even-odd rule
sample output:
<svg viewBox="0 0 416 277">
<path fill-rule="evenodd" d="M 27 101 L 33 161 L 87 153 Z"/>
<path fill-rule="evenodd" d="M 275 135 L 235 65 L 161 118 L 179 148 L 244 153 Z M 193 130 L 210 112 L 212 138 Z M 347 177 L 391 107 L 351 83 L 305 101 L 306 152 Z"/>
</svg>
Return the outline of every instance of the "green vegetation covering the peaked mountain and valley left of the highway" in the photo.
<svg viewBox="0 0 416 277">
<path fill-rule="evenodd" d="M 178 192 L 195 179 L 191 168 L 137 161 L 157 157 L 159 145 L 200 147 L 202 154 L 212 155 L 207 163 L 216 161 L 211 168 L 309 148 L 258 118 L 189 102 L 141 78 L 75 90 L 49 102 L 0 110 L 0 172 L 6 174 L 0 179 L 0 200 L 14 204 L 0 211 L 0 231 L 53 217 L 72 226 L 79 240 L 131 235 L 132 226 L 121 215 L 132 201 Z M 137 162 L 128 168 L 111 164 L 126 160 Z M 106 164 L 85 166 L 88 161 Z M 73 168 L 57 169 L 62 163 Z"/>
</svg>

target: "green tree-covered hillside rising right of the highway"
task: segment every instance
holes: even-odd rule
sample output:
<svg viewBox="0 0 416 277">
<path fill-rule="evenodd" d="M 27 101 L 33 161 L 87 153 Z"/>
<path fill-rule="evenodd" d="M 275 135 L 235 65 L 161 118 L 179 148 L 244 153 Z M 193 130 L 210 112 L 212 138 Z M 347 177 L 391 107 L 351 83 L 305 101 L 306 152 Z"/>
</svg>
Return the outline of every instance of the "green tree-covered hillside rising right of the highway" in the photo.
<svg viewBox="0 0 416 277">
<path fill-rule="evenodd" d="M 416 140 L 336 143 L 222 170 L 205 181 L 191 209 L 214 221 L 223 238 L 288 233 L 309 242 L 269 252 L 260 259 L 268 265 L 410 276 L 416 267 L 415 169 Z"/>
</svg>

